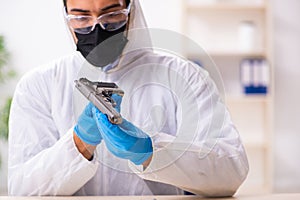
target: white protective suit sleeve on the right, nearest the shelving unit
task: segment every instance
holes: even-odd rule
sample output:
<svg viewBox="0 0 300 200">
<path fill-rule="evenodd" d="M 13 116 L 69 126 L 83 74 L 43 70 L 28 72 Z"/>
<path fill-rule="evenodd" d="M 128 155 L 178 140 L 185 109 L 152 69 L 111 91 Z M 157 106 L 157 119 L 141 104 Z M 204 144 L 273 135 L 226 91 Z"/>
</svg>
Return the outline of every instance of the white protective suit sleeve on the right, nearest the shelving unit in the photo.
<svg viewBox="0 0 300 200">
<path fill-rule="evenodd" d="M 232 196 L 249 170 L 239 133 L 209 76 L 188 80 L 184 93 L 177 92 L 181 96 L 177 133 L 152 137 L 154 153 L 147 169 L 130 166 L 144 179 L 194 194 Z"/>
</svg>

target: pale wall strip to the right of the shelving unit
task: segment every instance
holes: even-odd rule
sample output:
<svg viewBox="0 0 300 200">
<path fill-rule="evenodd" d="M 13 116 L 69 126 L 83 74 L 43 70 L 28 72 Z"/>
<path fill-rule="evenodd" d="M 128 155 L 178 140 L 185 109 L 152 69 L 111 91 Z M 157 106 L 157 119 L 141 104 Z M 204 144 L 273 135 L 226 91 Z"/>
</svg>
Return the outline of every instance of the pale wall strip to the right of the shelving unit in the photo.
<svg viewBox="0 0 300 200">
<path fill-rule="evenodd" d="M 300 1 L 274 0 L 275 189 L 300 192 Z"/>
</svg>

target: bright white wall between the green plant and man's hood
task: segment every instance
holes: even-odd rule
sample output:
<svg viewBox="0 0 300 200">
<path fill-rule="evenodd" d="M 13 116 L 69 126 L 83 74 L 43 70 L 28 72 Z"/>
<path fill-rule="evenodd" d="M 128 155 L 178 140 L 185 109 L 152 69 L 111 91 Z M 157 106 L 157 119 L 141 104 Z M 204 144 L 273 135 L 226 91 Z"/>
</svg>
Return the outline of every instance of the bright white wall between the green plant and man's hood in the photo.
<svg viewBox="0 0 300 200">
<path fill-rule="evenodd" d="M 11 54 L 9 65 L 19 77 L 73 48 L 63 21 L 62 0 L 0 0 L 0 35 L 5 36 Z M 12 91 L 2 86 L 1 96 L 6 93 Z"/>
</svg>

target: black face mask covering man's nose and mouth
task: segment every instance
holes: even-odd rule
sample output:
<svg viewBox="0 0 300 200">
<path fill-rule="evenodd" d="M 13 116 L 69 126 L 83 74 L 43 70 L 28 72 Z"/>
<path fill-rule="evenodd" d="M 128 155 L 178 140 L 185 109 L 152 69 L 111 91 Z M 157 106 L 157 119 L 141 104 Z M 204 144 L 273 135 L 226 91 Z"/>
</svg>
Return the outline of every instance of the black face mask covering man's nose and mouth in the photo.
<svg viewBox="0 0 300 200">
<path fill-rule="evenodd" d="M 116 31 L 105 31 L 99 24 L 89 34 L 76 33 L 77 51 L 92 65 L 105 67 L 116 61 L 128 40 L 124 36 L 126 25 Z"/>
</svg>

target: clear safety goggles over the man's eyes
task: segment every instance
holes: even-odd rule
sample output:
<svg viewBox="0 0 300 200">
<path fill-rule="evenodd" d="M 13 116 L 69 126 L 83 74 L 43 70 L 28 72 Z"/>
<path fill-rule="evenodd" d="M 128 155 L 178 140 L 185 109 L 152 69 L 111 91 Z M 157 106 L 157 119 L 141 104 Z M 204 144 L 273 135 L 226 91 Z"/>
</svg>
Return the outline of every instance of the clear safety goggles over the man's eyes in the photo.
<svg viewBox="0 0 300 200">
<path fill-rule="evenodd" d="M 100 15 L 98 18 L 85 15 L 68 15 L 65 10 L 65 18 L 70 28 L 80 34 L 89 34 L 99 24 L 106 31 L 115 31 L 128 22 L 131 4 L 122 10 L 117 10 Z"/>
</svg>

